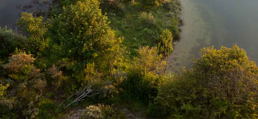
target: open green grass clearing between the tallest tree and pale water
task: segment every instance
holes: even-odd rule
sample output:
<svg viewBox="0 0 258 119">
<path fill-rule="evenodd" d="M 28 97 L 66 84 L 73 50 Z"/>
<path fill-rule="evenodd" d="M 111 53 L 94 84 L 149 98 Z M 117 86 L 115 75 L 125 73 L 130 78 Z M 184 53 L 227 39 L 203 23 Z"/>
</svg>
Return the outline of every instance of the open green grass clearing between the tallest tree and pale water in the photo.
<svg viewBox="0 0 258 119">
<path fill-rule="evenodd" d="M 173 2 L 166 4 L 169 3 Z M 175 40 L 179 39 L 180 12 L 166 6 L 146 6 L 139 1 L 127 2 L 123 14 L 109 11 L 107 15 L 116 35 L 125 37 L 123 44 L 134 52 L 139 46 L 157 45 L 157 37 L 165 28 L 172 31 Z"/>
</svg>

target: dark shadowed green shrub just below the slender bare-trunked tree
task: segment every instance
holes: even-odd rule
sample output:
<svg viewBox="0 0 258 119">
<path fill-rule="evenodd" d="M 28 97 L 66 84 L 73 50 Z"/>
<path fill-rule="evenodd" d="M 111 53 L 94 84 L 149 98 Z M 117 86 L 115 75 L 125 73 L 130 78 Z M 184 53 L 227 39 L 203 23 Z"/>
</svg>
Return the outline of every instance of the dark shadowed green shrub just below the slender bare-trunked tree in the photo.
<svg viewBox="0 0 258 119">
<path fill-rule="evenodd" d="M 158 87 L 167 79 L 167 76 L 159 76 L 153 72 L 146 74 L 129 72 L 127 79 L 121 84 L 125 90 L 122 94 L 127 100 L 136 99 L 148 104 L 153 102 L 153 99 L 157 96 Z"/>
</svg>

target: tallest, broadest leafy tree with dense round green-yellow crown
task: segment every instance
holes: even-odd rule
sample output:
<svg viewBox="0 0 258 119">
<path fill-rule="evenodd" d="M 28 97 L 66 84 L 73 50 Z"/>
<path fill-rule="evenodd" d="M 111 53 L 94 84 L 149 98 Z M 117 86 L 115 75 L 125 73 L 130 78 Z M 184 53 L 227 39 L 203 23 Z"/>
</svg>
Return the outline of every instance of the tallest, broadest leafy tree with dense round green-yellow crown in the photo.
<svg viewBox="0 0 258 119">
<path fill-rule="evenodd" d="M 63 11 L 55 18 L 52 32 L 64 55 L 78 60 L 100 55 L 108 45 L 111 30 L 98 0 L 78 1 Z"/>
</svg>

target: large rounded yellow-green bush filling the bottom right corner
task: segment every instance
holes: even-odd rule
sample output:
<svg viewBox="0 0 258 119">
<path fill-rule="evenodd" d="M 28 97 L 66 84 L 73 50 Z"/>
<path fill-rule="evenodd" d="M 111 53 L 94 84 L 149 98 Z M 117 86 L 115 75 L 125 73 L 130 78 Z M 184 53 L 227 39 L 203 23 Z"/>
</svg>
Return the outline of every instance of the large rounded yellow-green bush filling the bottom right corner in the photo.
<svg viewBox="0 0 258 119">
<path fill-rule="evenodd" d="M 159 108 L 152 111 L 171 118 L 255 119 L 257 71 L 237 45 L 204 48 L 192 70 L 159 87 L 154 104 Z"/>
</svg>

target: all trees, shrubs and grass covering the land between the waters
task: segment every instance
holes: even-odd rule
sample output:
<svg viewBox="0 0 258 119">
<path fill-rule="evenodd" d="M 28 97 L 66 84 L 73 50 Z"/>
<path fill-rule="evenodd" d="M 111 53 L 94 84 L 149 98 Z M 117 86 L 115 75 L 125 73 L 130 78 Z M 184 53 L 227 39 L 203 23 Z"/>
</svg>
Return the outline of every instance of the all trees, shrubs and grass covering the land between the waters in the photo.
<svg viewBox="0 0 258 119">
<path fill-rule="evenodd" d="M 0 118 L 258 118 L 258 68 L 237 45 L 167 73 L 180 1 L 59 3 L 0 28 Z"/>
</svg>

